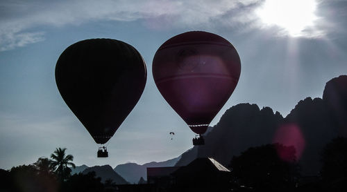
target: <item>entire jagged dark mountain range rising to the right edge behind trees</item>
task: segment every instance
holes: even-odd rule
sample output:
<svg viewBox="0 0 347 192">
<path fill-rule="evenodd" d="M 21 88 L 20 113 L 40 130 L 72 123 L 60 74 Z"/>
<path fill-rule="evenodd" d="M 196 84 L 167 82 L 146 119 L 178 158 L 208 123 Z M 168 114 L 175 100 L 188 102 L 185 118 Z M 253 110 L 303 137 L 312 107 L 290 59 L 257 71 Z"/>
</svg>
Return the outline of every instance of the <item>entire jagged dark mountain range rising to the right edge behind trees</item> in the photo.
<svg viewBox="0 0 347 192">
<path fill-rule="evenodd" d="M 224 113 L 217 125 L 205 135 L 204 146 L 194 146 L 182 154 L 176 166 L 185 166 L 196 157 L 213 157 L 228 166 L 232 156 L 252 146 L 271 144 L 281 126 L 292 124 L 303 137 L 299 163 L 304 175 L 316 175 L 323 146 L 347 133 L 347 76 L 334 78 L 325 85 L 323 99 L 307 97 L 283 118 L 269 107 L 237 104 Z M 291 138 L 294 142 L 298 138 Z M 277 141 L 278 142 L 278 141 Z"/>
</svg>

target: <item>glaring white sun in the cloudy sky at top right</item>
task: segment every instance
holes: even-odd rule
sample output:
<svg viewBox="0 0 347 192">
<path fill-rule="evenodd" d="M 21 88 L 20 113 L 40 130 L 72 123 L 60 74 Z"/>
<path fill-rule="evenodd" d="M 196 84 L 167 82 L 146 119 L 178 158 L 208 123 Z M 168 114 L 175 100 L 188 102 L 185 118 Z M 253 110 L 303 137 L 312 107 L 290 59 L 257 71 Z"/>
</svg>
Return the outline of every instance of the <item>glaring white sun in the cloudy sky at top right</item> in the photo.
<svg viewBox="0 0 347 192">
<path fill-rule="evenodd" d="M 291 36 L 303 35 L 303 30 L 314 27 L 315 0 L 266 0 L 257 15 L 266 25 L 284 28 Z"/>
</svg>

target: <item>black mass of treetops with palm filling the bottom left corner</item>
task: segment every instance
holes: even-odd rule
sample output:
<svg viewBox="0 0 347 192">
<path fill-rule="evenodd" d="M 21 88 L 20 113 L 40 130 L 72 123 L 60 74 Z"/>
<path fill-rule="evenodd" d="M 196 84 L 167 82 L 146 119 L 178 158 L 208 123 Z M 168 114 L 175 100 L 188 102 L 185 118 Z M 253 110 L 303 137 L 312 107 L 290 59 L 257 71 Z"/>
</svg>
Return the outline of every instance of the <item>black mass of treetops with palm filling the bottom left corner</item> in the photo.
<svg viewBox="0 0 347 192">
<path fill-rule="evenodd" d="M 0 169 L 0 191 L 15 192 L 69 192 L 69 191 L 115 191 L 116 183 L 106 180 L 101 182 L 95 172 L 69 175 L 73 166 L 72 155 L 65 156 L 66 148 L 57 148 L 52 159 L 40 157 L 37 162 L 29 165 L 14 166 L 10 171 Z M 62 167 L 62 171 L 60 171 Z M 112 169 L 112 168 L 110 168 Z M 63 180 L 60 174 L 64 177 Z M 56 175 L 57 174 L 57 175 Z"/>
</svg>

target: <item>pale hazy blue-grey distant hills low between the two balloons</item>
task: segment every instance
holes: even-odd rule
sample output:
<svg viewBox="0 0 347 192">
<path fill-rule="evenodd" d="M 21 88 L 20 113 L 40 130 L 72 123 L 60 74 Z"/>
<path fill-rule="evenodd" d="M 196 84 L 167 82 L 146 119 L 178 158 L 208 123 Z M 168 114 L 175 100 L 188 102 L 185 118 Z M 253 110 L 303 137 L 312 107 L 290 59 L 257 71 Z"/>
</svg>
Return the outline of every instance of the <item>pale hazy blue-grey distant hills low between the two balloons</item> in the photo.
<svg viewBox="0 0 347 192">
<path fill-rule="evenodd" d="M 124 177 L 128 182 L 137 184 L 141 177 L 145 179 L 147 178 L 147 167 L 174 166 L 179 159 L 180 157 L 176 157 L 164 162 L 149 162 L 142 165 L 135 163 L 119 164 L 115 167 L 115 171 Z"/>
</svg>

